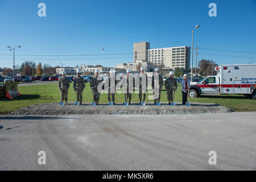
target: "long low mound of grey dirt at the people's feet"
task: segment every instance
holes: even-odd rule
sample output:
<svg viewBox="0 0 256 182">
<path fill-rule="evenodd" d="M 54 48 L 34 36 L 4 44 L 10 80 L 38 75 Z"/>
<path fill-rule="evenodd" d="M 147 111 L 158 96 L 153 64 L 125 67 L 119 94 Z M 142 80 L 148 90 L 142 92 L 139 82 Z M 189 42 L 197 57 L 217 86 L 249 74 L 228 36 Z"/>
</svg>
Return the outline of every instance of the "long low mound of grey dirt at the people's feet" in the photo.
<svg viewBox="0 0 256 182">
<path fill-rule="evenodd" d="M 123 104 L 106 105 L 100 104 L 92 106 L 85 103 L 79 106 L 73 103 L 68 105 L 59 105 L 59 103 L 38 104 L 24 107 L 13 111 L 13 115 L 52 115 L 52 114 L 197 114 L 197 113 L 228 113 L 232 110 L 225 106 L 217 104 L 192 103 L 191 106 L 176 103 L 176 106 L 167 105 L 167 102 L 161 106 L 146 103 L 141 106 L 133 103 L 129 106 Z"/>
</svg>

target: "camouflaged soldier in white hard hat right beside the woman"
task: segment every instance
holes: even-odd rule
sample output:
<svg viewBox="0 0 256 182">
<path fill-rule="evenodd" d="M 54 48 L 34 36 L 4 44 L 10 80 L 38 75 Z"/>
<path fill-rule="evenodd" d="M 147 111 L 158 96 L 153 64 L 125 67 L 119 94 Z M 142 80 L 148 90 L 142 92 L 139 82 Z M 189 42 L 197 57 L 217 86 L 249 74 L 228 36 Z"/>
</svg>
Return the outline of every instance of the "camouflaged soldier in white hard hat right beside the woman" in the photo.
<svg viewBox="0 0 256 182">
<path fill-rule="evenodd" d="M 166 86 L 166 90 L 167 90 L 167 99 L 169 101 L 169 105 L 171 105 L 171 101 L 174 102 L 174 90 L 177 90 L 177 81 L 174 78 L 174 72 L 170 72 L 170 77 L 168 77 L 166 79 L 166 81 L 164 81 L 164 86 Z"/>
</svg>

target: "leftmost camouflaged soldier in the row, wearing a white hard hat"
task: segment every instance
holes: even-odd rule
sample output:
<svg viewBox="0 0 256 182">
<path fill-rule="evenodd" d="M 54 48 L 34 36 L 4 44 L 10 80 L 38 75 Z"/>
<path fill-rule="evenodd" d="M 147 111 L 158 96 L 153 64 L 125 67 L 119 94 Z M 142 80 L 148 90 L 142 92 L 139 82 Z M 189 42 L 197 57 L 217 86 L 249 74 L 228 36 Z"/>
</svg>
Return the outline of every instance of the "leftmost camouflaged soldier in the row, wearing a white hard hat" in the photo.
<svg viewBox="0 0 256 182">
<path fill-rule="evenodd" d="M 69 78 L 66 77 L 66 72 L 63 71 L 62 77 L 59 78 L 59 89 L 61 95 L 61 102 L 65 99 L 65 104 L 68 104 L 68 89 L 69 89 Z"/>
</svg>

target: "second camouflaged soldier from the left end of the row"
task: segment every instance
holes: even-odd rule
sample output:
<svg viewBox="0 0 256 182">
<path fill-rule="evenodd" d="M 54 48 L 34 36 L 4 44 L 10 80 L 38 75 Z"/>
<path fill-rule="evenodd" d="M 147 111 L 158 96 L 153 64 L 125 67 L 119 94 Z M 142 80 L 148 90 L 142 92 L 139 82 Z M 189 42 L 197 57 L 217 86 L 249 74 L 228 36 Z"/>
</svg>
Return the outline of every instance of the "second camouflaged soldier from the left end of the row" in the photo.
<svg viewBox="0 0 256 182">
<path fill-rule="evenodd" d="M 80 101 L 80 104 L 82 104 L 82 91 L 84 91 L 85 82 L 80 70 L 77 70 L 77 77 L 75 77 L 73 88 L 76 92 L 76 102 Z"/>
</svg>

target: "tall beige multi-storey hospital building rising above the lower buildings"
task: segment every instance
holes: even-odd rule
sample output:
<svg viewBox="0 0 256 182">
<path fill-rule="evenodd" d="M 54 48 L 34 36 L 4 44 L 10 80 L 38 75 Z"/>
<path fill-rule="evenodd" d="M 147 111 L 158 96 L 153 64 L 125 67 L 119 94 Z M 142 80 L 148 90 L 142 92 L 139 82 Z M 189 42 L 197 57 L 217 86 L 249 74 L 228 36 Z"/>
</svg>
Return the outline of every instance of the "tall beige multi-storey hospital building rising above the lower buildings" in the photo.
<svg viewBox="0 0 256 182">
<path fill-rule="evenodd" d="M 134 62 L 138 59 L 145 59 L 147 62 L 156 65 L 163 65 L 164 68 L 182 69 L 190 68 L 190 47 L 167 47 L 150 49 L 150 43 L 134 43 Z"/>
</svg>

